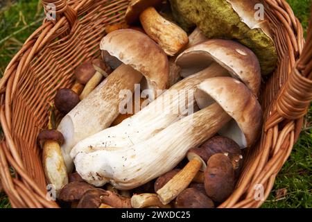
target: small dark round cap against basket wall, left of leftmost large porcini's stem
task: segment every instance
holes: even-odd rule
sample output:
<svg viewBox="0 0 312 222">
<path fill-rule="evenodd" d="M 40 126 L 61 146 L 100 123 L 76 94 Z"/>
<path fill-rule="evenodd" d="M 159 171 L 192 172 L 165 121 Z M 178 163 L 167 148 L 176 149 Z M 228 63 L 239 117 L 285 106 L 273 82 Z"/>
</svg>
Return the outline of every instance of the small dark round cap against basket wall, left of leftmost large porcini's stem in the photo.
<svg viewBox="0 0 312 222">
<path fill-rule="evenodd" d="M 54 98 L 55 108 L 62 114 L 67 114 L 80 103 L 76 92 L 71 89 L 59 89 Z"/>
</svg>

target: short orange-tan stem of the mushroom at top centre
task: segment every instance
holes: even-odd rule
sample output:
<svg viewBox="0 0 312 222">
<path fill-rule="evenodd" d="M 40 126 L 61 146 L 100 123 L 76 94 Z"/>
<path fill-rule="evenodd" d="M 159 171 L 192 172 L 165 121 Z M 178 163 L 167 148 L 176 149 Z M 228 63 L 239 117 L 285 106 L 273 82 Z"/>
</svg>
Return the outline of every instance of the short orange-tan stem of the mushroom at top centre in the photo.
<svg viewBox="0 0 312 222">
<path fill-rule="evenodd" d="M 159 44 L 168 56 L 174 56 L 189 43 L 182 28 L 159 15 L 153 7 L 146 8 L 140 15 L 144 31 Z"/>
</svg>

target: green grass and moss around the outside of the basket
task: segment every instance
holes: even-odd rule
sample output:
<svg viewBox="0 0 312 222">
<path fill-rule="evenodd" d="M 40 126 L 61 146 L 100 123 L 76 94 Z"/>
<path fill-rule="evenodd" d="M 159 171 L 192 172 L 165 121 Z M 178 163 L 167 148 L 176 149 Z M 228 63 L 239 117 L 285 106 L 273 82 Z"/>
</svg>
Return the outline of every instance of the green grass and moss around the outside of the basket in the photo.
<svg viewBox="0 0 312 222">
<path fill-rule="evenodd" d="M 42 9 L 37 10 L 37 0 L 4 2 L 7 6 L 0 8 L 0 76 L 26 38 L 40 26 L 44 16 Z M 306 28 L 309 24 L 311 0 L 288 0 L 288 2 Z M 263 207 L 312 207 L 311 117 L 312 108 L 306 117 L 300 140 L 277 176 L 272 193 Z M 278 194 L 285 189 L 285 195 Z M 5 194 L 0 194 L 1 207 L 10 207 Z"/>
</svg>

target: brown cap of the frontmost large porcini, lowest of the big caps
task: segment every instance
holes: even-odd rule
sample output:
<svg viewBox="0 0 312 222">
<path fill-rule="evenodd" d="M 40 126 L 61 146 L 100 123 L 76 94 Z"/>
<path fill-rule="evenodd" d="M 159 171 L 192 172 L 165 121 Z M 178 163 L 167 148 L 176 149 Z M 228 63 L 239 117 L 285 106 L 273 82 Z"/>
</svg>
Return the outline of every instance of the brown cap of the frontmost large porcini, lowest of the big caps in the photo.
<svg viewBox="0 0 312 222">
<path fill-rule="evenodd" d="M 230 77 L 209 78 L 200 83 L 195 96 L 200 108 L 216 102 L 233 118 L 220 135 L 233 139 L 241 148 L 256 142 L 262 127 L 261 105 L 243 83 Z"/>
</svg>

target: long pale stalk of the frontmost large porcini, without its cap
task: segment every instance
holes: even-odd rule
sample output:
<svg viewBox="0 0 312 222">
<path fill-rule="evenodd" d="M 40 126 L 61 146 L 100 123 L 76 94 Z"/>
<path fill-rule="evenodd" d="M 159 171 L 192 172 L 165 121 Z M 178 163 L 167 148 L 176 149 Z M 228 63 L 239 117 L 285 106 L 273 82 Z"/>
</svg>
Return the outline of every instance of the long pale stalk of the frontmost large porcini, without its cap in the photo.
<svg viewBox="0 0 312 222">
<path fill-rule="evenodd" d="M 117 189 L 133 189 L 173 169 L 189 148 L 205 142 L 230 119 L 214 104 L 134 146 L 79 152 L 74 160 L 76 170 L 97 187 L 110 182 Z"/>
</svg>

